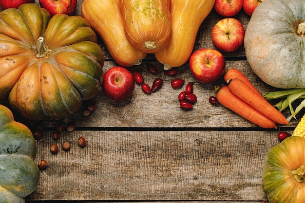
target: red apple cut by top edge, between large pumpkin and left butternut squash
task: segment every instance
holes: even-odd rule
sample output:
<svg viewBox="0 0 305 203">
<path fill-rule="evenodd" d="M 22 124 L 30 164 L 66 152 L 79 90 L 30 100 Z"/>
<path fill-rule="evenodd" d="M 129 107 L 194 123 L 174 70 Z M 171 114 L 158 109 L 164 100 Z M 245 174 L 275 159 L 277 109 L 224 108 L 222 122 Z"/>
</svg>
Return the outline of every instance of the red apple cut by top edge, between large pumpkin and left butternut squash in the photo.
<svg viewBox="0 0 305 203">
<path fill-rule="evenodd" d="M 77 0 L 39 0 L 42 8 L 45 8 L 51 16 L 66 14 L 72 16 L 76 10 Z"/>
</svg>

